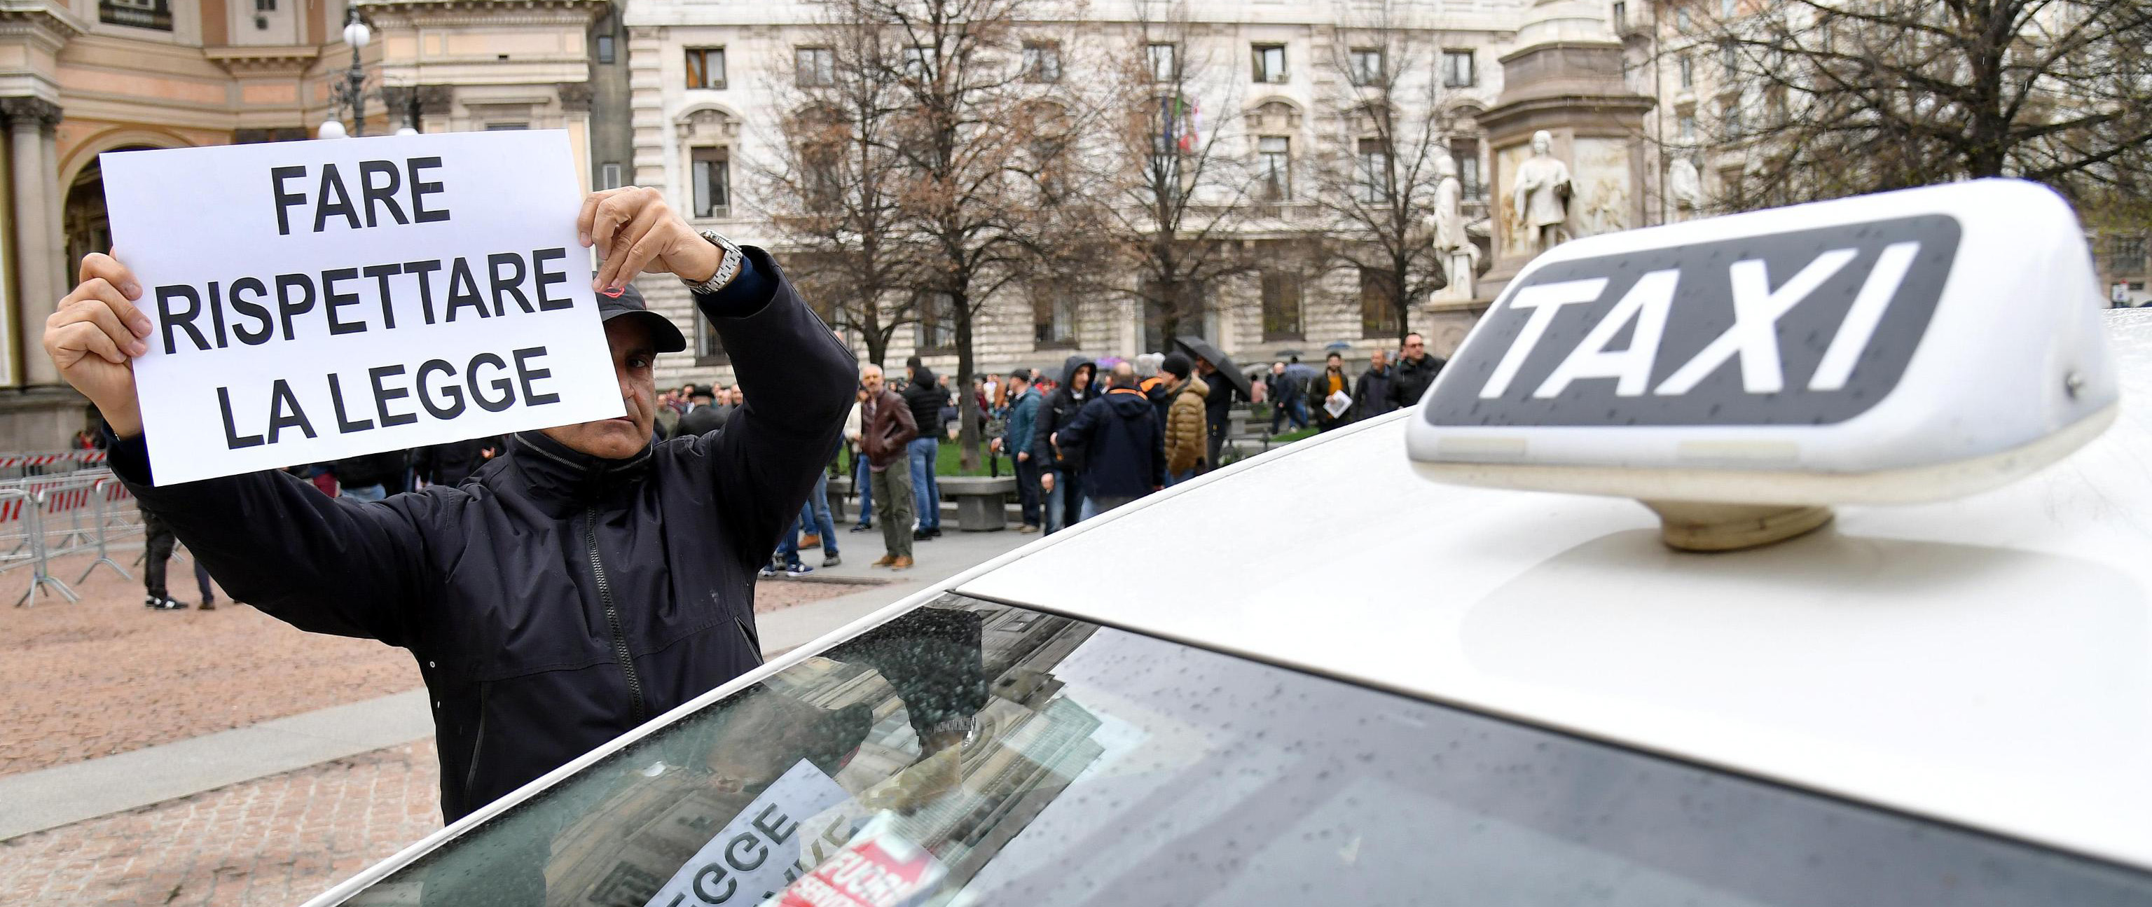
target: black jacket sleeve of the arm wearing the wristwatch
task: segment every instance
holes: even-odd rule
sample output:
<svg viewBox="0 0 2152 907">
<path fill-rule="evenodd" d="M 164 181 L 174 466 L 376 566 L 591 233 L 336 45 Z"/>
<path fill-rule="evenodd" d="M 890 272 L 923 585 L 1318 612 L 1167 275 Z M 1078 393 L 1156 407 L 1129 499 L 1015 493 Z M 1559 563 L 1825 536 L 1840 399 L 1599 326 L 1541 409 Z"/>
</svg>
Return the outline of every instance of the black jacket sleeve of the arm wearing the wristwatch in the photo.
<svg viewBox="0 0 2152 907">
<path fill-rule="evenodd" d="M 742 251 L 766 279 L 697 292 L 695 307 L 732 352 L 747 404 L 732 413 L 723 432 L 695 436 L 689 449 L 708 458 L 717 475 L 712 505 L 749 546 L 738 555 L 758 563 L 798 516 L 837 449 L 859 372 L 852 352 L 801 301 L 777 262 L 758 247 Z"/>
</svg>

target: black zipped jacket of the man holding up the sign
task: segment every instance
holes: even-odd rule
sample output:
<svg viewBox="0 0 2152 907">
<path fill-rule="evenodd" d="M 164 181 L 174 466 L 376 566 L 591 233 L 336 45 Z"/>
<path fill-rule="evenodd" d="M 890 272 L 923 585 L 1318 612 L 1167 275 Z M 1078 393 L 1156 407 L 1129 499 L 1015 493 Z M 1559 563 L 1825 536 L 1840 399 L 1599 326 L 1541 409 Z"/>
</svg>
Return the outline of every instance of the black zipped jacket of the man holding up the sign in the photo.
<svg viewBox="0 0 2152 907">
<path fill-rule="evenodd" d="M 275 471 L 151 488 L 142 438 L 112 469 L 232 598 L 411 649 L 456 821 L 762 662 L 755 570 L 856 378 L 777 264 L 749 258 L 768 299 L 697 297 L 751 391 L 719 434 L 598 460 L 523 432 L 473 481 L 383 503 Z"/>
</svg>

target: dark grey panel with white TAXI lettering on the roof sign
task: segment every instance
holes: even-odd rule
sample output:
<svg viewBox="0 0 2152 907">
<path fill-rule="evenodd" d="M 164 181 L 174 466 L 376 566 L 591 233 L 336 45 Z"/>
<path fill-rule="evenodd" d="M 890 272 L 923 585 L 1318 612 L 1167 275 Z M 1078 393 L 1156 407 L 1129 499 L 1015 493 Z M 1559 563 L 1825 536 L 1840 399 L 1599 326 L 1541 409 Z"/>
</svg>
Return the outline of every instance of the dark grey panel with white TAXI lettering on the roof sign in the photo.
<svg viewBox="0 0 2152 907">
<path fill-rule="evenodd" d="M 1889 395 L 1943 294 L 1948 215 L 1549 262 L 1442 370 L 1431 426 L 1829 426 Z"/>
</svg>

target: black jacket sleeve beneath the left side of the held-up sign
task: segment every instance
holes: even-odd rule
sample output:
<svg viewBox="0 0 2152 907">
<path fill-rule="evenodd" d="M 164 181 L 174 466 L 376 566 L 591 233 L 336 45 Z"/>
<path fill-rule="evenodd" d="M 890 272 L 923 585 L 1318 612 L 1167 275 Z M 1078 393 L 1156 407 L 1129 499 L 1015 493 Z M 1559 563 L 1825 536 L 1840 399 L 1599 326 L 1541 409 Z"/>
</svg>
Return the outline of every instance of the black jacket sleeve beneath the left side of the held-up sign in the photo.
<svg viewBox="0 0 2152 907">
<path fill-rule="evenodd" d="M 280 469 L 151 486 L 140 436 L 112 441 L 110 462 L 235 602 L 308 632 L 422 643 L 413 615 L 437 582 L 417 524 L 445 494 L 465 492 L 331 499 Z"/>
</svg>

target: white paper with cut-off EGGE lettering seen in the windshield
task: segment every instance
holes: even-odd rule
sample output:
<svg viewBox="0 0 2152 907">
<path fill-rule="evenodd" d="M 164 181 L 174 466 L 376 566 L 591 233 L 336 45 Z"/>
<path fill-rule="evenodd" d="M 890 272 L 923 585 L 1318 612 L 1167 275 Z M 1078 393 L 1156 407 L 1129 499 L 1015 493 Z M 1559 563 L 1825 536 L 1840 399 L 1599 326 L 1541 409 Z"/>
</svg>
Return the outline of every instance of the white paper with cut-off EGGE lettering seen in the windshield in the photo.
<svg viewBox="0 0 2152 907">
<path fill-rule="evenodd" d="M 648 907 L 760 905 L 798 877 L 792 866 L 805 838 L 801 823 L 850 800 L 822 769 L 801 759 L 702 845 Z"/>
</svg>

